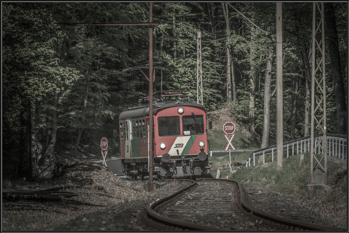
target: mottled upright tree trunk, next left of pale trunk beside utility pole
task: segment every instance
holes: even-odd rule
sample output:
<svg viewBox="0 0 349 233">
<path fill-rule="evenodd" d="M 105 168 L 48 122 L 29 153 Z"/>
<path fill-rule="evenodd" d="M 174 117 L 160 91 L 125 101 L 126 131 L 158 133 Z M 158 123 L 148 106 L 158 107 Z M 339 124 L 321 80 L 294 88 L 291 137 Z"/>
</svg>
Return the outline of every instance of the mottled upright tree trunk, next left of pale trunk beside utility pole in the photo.
<svg viewBox="0 0 349 233">
<path fill-rule="evenodd" d="M 255 133 L 254 130 L 254 96 L 255 96 L 255 70 L 254 70 L 254 49 L 252 46 L 254 45 L 254 27 L 251 26 L 251 75 L 250 75 L 250 105 L 248 108 L 250 109 L 249 117 L 248 117 L 248 130 L 250 133 Z"/>
</svg>

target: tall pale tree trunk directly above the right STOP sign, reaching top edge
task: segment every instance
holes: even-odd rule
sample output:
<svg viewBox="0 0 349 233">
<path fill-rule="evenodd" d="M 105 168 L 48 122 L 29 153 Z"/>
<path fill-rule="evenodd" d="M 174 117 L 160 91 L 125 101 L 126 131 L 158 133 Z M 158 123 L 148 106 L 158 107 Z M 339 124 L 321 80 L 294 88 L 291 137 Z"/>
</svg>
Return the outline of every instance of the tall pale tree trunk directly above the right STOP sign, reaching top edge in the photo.
<svg viewBox="0 0 349 233">
<path fill-rule="evenodd" d="M 232 93 L 231 93 L 231 60 L 230 60 L 230 24 L 229 24 L 229 10 L 227 3 L 221 2 L 221 5 L 223 7 L 223 14 L 225 19 L 225 30 L 227 31 L 227 46 L 226 46 L 226 53 L 227 53 L 227 102 L 232 100 Z"/>
</svg>

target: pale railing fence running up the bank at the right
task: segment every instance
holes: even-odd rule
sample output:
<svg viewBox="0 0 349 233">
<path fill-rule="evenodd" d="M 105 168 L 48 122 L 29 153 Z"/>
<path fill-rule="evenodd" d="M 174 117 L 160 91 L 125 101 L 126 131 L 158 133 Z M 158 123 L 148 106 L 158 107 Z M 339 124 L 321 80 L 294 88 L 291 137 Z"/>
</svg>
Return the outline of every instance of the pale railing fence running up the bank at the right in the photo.
<svg viewBox="0 0 349 233">
<path fill-rule="evenodd" d="M 324 141 L 322 140 L 322 145 L 317 145 L 315 144 L 316 140 L 320 140 L 322 137 L 322 134 L 315 134 L 314 135 L 314 146 L 316 146 L 315 153 L 317 154 L 324 154 Z M 341 134 L 327 134 L 326 135 L 326 144 L 327 144 L 327 156 L 334 156 L 338 157 L 339 159 L 343 159 L 344 157 L 346 160 L 347 159 L 347 136 L 346 135 L 341 135 Z M 311 146 L 311 141 L 310 141 L 310 136 L 299 138 L 296 140 L 288 141 L 283 144 L 282 148 L 283 151 L 287 151 L 287 158 L 289 155 L 294 155 L 299 154 L 299 153 L 305 153 L 310 151 L 310 146 Z M 250 158 L 246 161 L 245 167 L 250 167 L 251 162 L 252 165 L 255 166 L 256 162 L 255 159 L 257 157 L 262 156 L 263 159 L 263 164 L 266 162 L 266 155 L 271 154 L 271 161 L 274 162 L 274 153 L 276 154 L 276 145 L 274 146 L 269 146 L 266 148 L 261 148 L 259 150 L 254 151 Z M 252 160 L 252 161 L 251 161 Z"/>
</svg>

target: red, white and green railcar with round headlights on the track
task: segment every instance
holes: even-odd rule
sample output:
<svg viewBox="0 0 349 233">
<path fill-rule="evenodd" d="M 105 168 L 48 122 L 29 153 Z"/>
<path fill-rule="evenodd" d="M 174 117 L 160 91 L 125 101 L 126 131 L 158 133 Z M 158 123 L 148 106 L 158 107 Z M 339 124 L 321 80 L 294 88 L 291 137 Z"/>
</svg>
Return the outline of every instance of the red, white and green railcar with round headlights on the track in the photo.
<svg viewBox="0 0 349 233">
<path fill-rule="evenodd" d="M 206 112 L 187 100 L 153 101 L 153 168 L 162 177 L 203 175 L 210 169 Z M 176 96 L 176 95 L 174 95 Z M 149 175 L 149 104 L 119 116 L 122 171 L 136 179 Z"/>
</svg>

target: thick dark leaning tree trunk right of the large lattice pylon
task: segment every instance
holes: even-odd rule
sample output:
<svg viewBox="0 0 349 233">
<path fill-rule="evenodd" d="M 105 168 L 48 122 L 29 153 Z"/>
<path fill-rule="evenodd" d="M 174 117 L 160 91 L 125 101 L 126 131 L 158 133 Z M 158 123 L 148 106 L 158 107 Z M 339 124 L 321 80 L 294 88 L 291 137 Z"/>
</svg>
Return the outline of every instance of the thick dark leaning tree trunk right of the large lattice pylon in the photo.
<svg viewBox="0 0 349 233">
<path fill-rule="evenodd" d="M 334 94 L 337 108 L 337 130 L 339 134 L 347 134 L 347 110 L 344 94 L 344 84 L 341 70 L 341 58 L 338 47 L 336 18 L 333 12 L 333 3 L 325 3 L 325 21 L 327 25 L 328 51 L 331 59 Z"/>
</svg>

